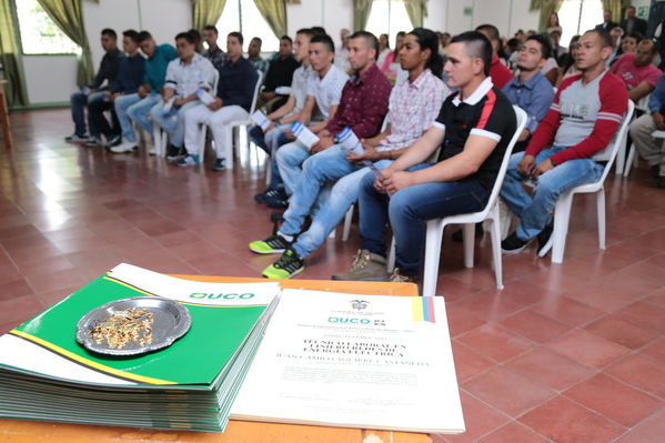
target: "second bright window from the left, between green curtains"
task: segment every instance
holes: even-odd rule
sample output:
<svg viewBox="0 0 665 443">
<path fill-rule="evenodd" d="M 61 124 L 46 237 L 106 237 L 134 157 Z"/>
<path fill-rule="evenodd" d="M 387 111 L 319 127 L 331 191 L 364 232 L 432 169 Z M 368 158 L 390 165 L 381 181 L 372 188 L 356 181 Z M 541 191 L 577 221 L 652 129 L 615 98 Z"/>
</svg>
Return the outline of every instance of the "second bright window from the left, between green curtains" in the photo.
<svg viewBox="0 0 665 443">
<path fill-rule="evenodd" d="M 228 0 L 216 28 L 220 31 L 219 46 L 222 49 L 226 48 L 226 36 L 233 31 L 242 33 L 245 51 L 254 37 L 263 41 L 262 52 L 275 52 L 280 49 L 280 40 L 259 12 L 254 0 Z"/>
</svg>

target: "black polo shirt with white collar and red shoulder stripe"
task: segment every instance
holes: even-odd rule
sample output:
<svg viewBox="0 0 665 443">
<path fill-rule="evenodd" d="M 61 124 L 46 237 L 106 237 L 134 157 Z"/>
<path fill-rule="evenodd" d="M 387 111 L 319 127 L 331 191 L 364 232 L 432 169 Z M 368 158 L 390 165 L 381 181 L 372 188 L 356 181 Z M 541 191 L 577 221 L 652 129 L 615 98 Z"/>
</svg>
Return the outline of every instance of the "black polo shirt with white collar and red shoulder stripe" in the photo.
<svg viewBox="0 0 665 443">
<path fill-rule="evenodd" d="M 447 160 L 464 150 L 470 135 L 496 141 L 492 153 L 478 170 L 462 179 L 477 180 L 485 189 L 492 189 L 505 150 L 515 133 L 517 119 L 513 105 L 501 90 L 486 78 L 471 95 L 461 100 L 460 91 L 451 94 L 441 107 L 434 127 L 445 131 L 439 161 Z"/>
</svg>

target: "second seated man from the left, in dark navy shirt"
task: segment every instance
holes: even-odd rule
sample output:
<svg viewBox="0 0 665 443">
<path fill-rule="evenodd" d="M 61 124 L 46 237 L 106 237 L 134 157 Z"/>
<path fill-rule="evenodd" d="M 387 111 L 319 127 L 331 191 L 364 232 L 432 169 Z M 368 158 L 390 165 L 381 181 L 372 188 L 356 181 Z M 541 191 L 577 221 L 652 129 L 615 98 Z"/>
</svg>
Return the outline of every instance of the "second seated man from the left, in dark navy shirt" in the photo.
<svg viewBox="0 0 665 443">
<path fill-rule="evenodd" d="M 118 67 L 118 81 L 108 91 L 103 100 L 88 104 L 90 127 L 94 127 L 107 138 L 105 148 L 109 149 L 120 141 L 120 123 L 115 114 L 115 100 L 125 94 L 133 94 L 143 81 L 145 59 L 139 53 L 139 33 L 133 29 L 122 32 L 122 49 L 127 57 L 120 59 Z M 113 128 L 109 125 L 103 112 L 111 110 Z"/>
</svg>

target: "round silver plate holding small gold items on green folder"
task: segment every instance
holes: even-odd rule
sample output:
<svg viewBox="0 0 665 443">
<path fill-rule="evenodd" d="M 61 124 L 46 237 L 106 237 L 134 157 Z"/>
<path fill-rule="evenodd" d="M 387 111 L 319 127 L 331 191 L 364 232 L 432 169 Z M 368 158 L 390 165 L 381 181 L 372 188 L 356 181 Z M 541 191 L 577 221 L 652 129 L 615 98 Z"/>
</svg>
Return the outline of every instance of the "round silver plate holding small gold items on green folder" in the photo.
<svg viewBox="0 0 665 443">
<path fill-rule="evenodd" d="M 143 308 L 152 313 L 152 341 L 139 344 L 130 341 L 123 348 L 110 348 L 107 340 L 97 343 L 90 331 L 109 316 L 131 309 Z M 192 324 L 192 318 L 187 308 L 178 302 L 159 296 L 133 296 L 102 304 L 93 309 L 79 320 L 77 324 L 77 341 L 85 349 L 100 354 L 137 355 L 170 346 L 175 340 L 183 336 Z"/>
</svg>

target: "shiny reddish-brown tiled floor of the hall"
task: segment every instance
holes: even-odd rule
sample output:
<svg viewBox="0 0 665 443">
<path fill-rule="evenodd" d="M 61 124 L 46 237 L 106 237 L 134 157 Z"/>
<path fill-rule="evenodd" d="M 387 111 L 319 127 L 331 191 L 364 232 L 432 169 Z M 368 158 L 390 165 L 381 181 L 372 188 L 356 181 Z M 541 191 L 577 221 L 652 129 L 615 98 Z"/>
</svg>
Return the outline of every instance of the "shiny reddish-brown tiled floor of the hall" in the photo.
<svg viewBox="0 0 665 443">
<path fill-rule="evenodd" d="M 270 233 L 256 155 L 233 172 L 70 145 L 66 110 L 14 113 L 0 149 L 0 332 L 120 262 L 161 272 L 259 276 Z M 261 158 L 262 162 L 262 158 Z M 607 249 L 593 198 L 577 197 L 565 262 L 504 259 L 487 239 L 476 268 L 446 235 L 439 293 L 453 336 L 467 432 L 437 442 L 664 442 L 665 191 L 646 169 L 607 180 Z M 343 271 L 357 248 L 329 240 L 304 279 Z M 435 343 L 433 343 L 435 345 Z"/>
</svg>

